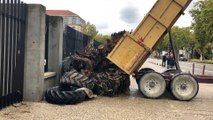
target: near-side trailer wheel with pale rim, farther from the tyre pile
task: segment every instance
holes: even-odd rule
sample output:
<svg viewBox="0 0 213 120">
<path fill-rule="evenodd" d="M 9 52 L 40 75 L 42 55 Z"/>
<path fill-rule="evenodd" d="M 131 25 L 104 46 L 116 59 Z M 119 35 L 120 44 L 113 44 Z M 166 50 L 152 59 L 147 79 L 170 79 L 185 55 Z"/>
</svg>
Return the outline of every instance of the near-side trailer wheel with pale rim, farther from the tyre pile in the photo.
<svg viewBox="0 0 213 120">
<path fill-rule="evenodd" d="M 189 101 L 197 95 L 199 85 L 191 74 L 184 73 L 172 79 L 170 89 L 176 99 Z"/>
</svg>

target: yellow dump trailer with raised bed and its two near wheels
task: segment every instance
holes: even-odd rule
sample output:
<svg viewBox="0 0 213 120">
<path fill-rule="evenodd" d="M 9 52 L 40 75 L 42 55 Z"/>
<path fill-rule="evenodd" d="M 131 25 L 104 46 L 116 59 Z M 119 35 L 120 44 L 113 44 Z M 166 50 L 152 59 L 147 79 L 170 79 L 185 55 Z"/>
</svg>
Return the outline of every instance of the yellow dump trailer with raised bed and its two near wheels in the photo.
<svg viewBox="0 0 213 120">
<path fill-rule="evenodd" d="M 136 74 L 141 93 L 148 98 L 160 97 L 170 82 L 175 98 L 191 100 L 198 93 L 198 82 L 191 74 L 168 70 L 157 73 L 150 68 L 139 70 L 142 64 L 183 14 L 192 0 L 157 0 L 135 31 L 125 33 L 107 58 L 123 71 Z"/>
</svg>

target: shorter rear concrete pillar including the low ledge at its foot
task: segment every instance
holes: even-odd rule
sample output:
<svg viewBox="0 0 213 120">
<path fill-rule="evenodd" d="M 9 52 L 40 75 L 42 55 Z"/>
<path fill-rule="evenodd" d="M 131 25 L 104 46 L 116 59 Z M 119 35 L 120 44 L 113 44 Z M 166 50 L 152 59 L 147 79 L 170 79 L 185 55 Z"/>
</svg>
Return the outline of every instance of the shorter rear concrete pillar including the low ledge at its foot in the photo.
<svg viewBox="0 0 213 120">
<path fill-rule="evenodd" d="M 48 24 L 48 72 L 45 73 L 43 92 L 58 85 L 62 63 L 63 18 L 51 16 Z M 52 72 L 55 72 L 56 76 Z M 50 77 L 46 78 L 47 75 Z"/>
</svg>

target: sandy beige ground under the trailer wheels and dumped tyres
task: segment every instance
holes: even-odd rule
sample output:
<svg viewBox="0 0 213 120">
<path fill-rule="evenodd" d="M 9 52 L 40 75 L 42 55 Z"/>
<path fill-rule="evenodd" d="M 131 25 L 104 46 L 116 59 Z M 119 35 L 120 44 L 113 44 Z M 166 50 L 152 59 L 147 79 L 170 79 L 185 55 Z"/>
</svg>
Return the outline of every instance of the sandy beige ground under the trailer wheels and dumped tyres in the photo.
<svg viewBox="0 0 213 120">
<path fill-rule="evenodd" d="M 142 67 L 165 68 L 148 59 Z M 115 97 L 98 96 L 77 105 L 22 102 L 0 111 L 0 120 L 213 120 L 213 84 L 199 84 L 191 101 L 175 100 L 169 92 L 146 99 L 132 78 L 130 90 Z"/>
</svg>

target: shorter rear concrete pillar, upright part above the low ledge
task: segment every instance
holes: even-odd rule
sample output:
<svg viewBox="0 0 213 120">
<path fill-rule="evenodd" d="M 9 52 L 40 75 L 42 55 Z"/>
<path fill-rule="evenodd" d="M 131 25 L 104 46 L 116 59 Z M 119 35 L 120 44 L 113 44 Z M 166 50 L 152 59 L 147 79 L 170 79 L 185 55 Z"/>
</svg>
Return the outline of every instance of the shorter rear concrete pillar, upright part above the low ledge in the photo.
<svg viewBox="0 0 213 120">
<path fill-rule="evenodd" d="M 48 71 L 57 72 L 60 77 L 63 46 L 63 18 L 49 17 Z"/>
</svg>

